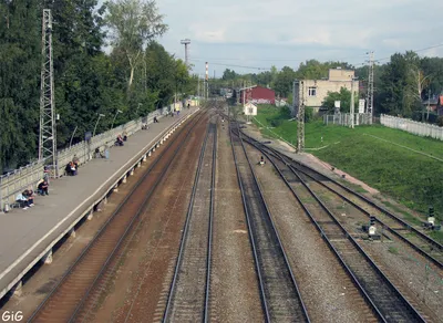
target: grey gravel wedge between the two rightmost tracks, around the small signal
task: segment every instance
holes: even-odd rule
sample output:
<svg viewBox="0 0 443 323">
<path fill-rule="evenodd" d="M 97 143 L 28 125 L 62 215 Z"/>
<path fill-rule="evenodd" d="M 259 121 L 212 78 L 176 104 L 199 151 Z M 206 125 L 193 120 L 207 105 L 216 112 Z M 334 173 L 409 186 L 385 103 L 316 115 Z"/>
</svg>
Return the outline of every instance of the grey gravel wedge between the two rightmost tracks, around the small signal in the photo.
<svg viewBox="0 0 443 323">
<path fill-rule="evenodd" d="M 441 308 L 443 303 L 442 270 L 432 263 L 427 264 L 427 260 L 423 256 L 390 232 L 385 232 L 385 235 L 392 240 L 384 238 L 383 242 L 363 241 L 360 237 L 364 233 L 360 228 L 362 223 L 368 222 L 368 217 L 348 202 L 344 202 L 343 207 L 342 199 L 319 184 L 310 181 L 309 186 L 344 228 L 359 238 L 359 244 L 364 251 L 369 252 L 375 263 L 382 268 L 388 278 L 405 296 L 421 303 L 420 309 L 433 321 L 437 320 L 436 316 L 443 317 L 443 309 Z"/>
</svg>

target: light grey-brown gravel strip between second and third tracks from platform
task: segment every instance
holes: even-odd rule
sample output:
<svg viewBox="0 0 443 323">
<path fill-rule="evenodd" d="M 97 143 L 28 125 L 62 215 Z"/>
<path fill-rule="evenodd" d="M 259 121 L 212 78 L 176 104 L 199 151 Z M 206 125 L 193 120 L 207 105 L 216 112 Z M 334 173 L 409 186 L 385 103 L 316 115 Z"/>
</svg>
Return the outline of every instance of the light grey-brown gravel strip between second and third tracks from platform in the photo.
<svg viewBox="0 0 443 323">
<path fill-rule="evenodd" d="M 214 322 L 262 322 L 228 124 L 218 124 L 210 317 Z"/>
</svg>

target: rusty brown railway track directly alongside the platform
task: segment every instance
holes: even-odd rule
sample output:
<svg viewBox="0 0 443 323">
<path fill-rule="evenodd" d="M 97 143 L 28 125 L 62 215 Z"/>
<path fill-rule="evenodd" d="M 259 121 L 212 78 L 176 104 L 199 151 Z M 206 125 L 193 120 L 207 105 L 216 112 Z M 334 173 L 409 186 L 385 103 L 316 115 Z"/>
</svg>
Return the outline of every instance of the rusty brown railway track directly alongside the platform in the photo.
<svg viewBox="0 0 443 323">
<path fill-rule="evenodd" d="M 76 322 L 84 319 L 79 314 L 87 296 L 105 274 L 107 264 L 116 257 L 126 237 L 134 231 L 138 216 L 151 195 L 204 115 L 205 113 L 200 112 L 194 116 L 168 140 L 165 149 L 138 179 L 28 322 Z"/>
</svg>

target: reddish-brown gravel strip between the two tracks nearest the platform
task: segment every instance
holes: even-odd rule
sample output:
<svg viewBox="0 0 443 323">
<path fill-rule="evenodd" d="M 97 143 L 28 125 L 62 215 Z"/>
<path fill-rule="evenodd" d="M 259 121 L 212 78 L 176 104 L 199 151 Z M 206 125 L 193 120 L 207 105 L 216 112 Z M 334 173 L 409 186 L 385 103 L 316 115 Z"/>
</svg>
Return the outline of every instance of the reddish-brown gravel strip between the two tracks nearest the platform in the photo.
<svg viewBox="0 0 443 323">
<path fill-rule="evenodd" d="M 95 314 L 95 322 L 162 319 L 164 306 L 159 304 L 171 284 L 205 128 L 206 122 L 200 121 L 152 196 L 143 223 Z"/>
</svg>

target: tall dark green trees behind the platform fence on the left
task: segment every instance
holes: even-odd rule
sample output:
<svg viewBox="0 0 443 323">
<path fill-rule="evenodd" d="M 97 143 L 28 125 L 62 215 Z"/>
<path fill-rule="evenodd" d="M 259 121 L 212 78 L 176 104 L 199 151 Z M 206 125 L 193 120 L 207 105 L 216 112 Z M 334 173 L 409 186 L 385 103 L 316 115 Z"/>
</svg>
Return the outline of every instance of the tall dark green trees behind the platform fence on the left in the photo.
<svg viewBox="0 0 443 323">
<path fill-rule="evenodd" d="M 56 146 L 69 145 L 195 93 L 196 76 L 156 40 L 167 32 L 152 0 L 0 2 L 0 171 L 35 159 L 42 11 L 51 9 Z M 178 94 L 176 96 L 176 94 Z M 117 113 L 121 111 L 122 113 Z"/>
</svg>

